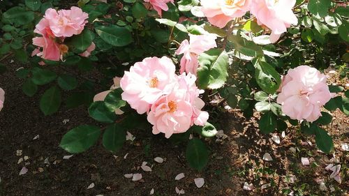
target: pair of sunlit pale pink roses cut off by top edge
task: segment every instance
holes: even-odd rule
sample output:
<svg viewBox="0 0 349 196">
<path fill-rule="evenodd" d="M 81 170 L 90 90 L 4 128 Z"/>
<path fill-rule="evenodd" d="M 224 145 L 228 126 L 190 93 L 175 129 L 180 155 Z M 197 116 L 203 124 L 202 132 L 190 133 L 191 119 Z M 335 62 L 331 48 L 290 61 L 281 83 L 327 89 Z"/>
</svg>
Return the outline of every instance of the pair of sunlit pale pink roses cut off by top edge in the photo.
<svg viewBox="0 0 349 196">
<path fill-rule="evenodd" d="M 272 30 L 270 40 L 276 42 L 286 28 L 297 24 L 292 12 L 296 0 L 201 0 L 202 13 L 216 27 L 223 28 L 236 17 L 242 17 L 250 11 L 259 25 L 264 24 Z"/>
</svg>

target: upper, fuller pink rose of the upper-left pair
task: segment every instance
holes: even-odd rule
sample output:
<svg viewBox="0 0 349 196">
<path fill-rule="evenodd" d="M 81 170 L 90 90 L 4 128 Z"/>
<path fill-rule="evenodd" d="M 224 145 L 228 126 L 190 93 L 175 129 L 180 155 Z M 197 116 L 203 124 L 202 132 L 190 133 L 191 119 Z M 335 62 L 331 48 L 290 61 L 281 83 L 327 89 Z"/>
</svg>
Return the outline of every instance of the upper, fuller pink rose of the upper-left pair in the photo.
<svg viewBox="0 0 349 196">
<path fill-rule="evenodd" d="M 45 19 L 49 22 L 54 36 L 57 37 L 71 37 L 80 34 L 87 24 L 88 17 L 87 13 L 75 6 L 70 10 L 59 10 L 58 12 L 48 8 L 45 12 Z"/>
</svg>

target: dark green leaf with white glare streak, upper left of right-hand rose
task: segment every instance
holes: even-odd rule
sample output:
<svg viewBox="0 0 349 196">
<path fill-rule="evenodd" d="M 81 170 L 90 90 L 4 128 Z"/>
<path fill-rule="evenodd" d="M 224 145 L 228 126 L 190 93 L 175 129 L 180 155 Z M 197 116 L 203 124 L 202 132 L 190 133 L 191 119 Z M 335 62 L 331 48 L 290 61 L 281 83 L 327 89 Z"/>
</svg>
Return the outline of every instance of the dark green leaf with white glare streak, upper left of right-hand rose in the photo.
<svg viewBox="0 0 349 196">
<path fill-rule="evenodd" d="M 255 80 L 269 94 L 274 94 L 281 84 L 281 77 L 274 67 L 260 60 L 255 61 Z"/>
</svg>

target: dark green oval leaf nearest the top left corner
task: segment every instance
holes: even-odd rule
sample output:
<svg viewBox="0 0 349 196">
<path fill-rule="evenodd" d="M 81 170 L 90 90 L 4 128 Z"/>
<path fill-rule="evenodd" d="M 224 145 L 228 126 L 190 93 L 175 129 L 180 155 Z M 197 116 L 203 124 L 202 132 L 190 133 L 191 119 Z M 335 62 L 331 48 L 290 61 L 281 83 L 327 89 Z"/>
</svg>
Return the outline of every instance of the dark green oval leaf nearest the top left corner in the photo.
<svg viewBox="0 0 349 196">
<path fill-rule="evenodd" d="M 29 24 L 34 20 L 34 12 L 27 11 L 21 7 L 13 7 L 3 13 L 2 17 L 10 23 L 24 25 Z"/>
</svg>

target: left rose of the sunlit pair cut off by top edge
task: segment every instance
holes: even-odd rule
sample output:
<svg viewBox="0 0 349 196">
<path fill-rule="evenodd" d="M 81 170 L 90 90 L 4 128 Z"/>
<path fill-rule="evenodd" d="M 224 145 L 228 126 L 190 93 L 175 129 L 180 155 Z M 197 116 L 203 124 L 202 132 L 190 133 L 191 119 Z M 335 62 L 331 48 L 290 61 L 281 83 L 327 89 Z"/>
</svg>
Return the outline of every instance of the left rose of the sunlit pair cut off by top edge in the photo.
<svg viewBox="0 0 349 196">
<path fill-rule="evenodd" d="M 201 0 L 201 11 L 216 27 L 223 28 L 235 17 L 242 17 L 251 0 Z"/>
</svg>

